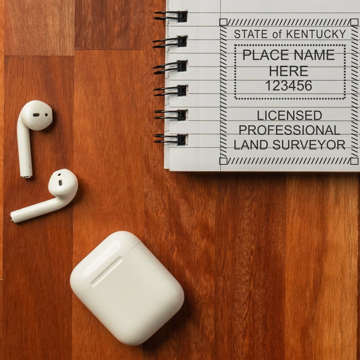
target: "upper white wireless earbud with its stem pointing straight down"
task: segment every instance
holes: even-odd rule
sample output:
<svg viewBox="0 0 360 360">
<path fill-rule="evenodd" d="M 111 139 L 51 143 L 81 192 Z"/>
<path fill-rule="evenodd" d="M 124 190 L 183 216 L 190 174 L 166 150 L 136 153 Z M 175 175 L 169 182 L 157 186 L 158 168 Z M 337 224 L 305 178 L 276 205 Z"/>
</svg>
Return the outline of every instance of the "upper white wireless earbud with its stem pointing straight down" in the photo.
<svg viewBox="0 0 360 360">
<path fill-rule="evenodd" d="M 32 176 L 30 134 L 31 130 L 44 130 L 53 121 L 53 111 L 48 104 L 32 100 L 21 109 L 18 118 L 18 149 L 20 176 L 25 179 Z"/>
</svg>

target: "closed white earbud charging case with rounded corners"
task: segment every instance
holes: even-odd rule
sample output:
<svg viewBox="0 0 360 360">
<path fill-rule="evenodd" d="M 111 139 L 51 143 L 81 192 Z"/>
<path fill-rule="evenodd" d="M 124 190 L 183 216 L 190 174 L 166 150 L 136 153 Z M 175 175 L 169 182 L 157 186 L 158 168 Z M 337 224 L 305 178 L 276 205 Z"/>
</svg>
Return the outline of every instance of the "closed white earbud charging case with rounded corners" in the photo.
<svg viewBox="0 0 360 360">
<path fill-rule="evenodd" d="M 139 345 L 180 310 L 184 291 L 134 235 L 109 235 L 70 276 L 76 296 L 122 343 Z"/>
</svg>

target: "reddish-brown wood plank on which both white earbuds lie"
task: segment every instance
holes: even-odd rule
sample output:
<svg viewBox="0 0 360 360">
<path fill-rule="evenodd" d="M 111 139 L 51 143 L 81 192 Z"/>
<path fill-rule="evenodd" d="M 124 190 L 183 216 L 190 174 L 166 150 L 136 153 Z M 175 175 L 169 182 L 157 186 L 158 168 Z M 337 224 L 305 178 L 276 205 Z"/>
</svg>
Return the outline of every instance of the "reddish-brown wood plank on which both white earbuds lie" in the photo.
<svg viewBox="0 0 360 360">
<path fill-rule="evenodd" d="M 73 71 L 71 57 L 5 58 L 5 359 L 71 357 L 72 204 L 19 224 L 10 222 L 9 213 L 51 198 L 50 175 L 73 168 Z M 31 131 L 34 176 L 25 180 L 19 176 L 16 123 L 33 99 L 48 103 L 55 115 L 48 129 Z"/>
</svg>

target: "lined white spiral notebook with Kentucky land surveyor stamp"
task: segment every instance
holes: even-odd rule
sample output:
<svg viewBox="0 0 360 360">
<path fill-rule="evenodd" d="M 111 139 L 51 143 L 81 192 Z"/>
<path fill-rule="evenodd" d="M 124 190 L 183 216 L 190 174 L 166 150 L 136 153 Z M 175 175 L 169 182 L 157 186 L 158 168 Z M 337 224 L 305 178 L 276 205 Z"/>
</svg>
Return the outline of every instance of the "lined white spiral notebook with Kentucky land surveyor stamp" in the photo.
<svg viewBox="0 0 360 360">
<path fill-rule="evenodd" d="M 168 0 L 164 167 L 359 171 L 360 1 Z"/>
</svg>

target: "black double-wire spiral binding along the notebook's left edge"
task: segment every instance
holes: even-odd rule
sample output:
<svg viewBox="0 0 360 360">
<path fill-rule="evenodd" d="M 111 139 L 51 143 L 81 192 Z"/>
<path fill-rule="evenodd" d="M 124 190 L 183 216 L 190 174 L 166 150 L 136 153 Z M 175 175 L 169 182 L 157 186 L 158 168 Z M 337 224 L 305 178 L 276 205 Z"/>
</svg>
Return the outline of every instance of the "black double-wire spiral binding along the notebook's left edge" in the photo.
<svg viewBox="0 0 360 360">
<path fill-rule="evenodd" d="M 154 19 L 166 21 L 168 19 L 175 19 L 177 22 L 187 22 L 188 21 L 188 12 L 187 11 L 157 11 L 154 14 L 164 15 L 156 16 Z M 178 48 L 183 48 L 188 45 L 188 36 L 176 36 L 170 37 L 168 39 L 154 40 L 153 43 L 162 42 L 163 44 L 153 45 L 154 49 L 166 48 L 167 46 L 176 46 Z M 177 60 L 175 62 L 161 64 L 154 66 L 153 69 L 159 69 L 154 72 L 155 75 L 162 75 L 168 71 L 183 72 L 188 69 L 187 60 Z M 168 86 L 168 87 L 157 87 L 154 89 L 157 93 L 154 96 L 186 96 L 188 92 L 188 85 L 177 85 L 177 86 Z M 172 120 L 172 121 L 184 121 L 186 120 L 187 110 L 177 109 L 177 110 L 155 110 L 156 114 L 161 114 L 161 116 L 155 116 L 154 119 L 161 120 Z M 186 134 L 176 134 L 176 135 L 165 135 L 165 134 L 154 134 L 154 143 L 160 144 L 177 144 L 178 146 L 186 145 Z"/>
</svg>

